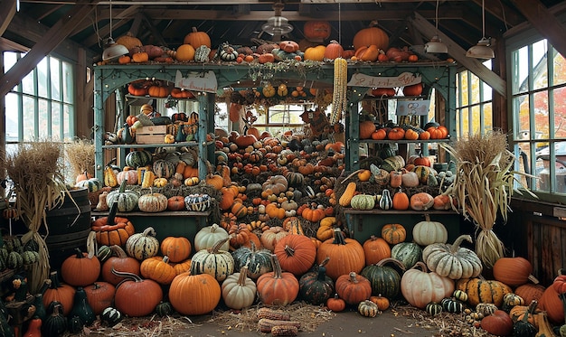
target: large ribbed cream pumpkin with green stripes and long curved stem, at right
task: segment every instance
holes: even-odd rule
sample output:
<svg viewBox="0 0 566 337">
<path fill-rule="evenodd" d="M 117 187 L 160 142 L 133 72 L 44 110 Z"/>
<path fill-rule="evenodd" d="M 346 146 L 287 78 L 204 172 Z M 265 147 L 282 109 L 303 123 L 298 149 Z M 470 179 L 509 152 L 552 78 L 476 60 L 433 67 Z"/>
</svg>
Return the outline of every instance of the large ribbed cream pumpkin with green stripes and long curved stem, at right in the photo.
<svg viewBox="0 0 566 337">
<path fill-rule="evenodd" d="M 454 244 L 435 243 L 424 248 L 422 259 L 430 270 L 451 279 L 479 276 L 482 263 L 476 253 L 468 248 L 460 247 L 464 240 L 472 242 L 469 235 L 459 236 Z"/>
</svg>

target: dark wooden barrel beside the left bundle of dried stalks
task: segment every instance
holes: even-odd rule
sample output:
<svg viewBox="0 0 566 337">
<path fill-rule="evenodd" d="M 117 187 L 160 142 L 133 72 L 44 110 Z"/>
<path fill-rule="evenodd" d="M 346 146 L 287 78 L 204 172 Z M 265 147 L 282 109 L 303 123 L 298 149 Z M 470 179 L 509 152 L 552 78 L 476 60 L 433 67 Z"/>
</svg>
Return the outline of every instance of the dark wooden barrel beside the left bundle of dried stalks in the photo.
<svg viewBox="0 0 566 337">
<path fill-rule="evenodd" d="M 90 233 L 89 191 L 86 188 L 71 190 L 60 207 L 46 212 L 45 220 L 49 233 L 43 234 L 47 235 L 49 261 L 52 269 L 57 270 L 75 248 L 86 250 Z"/>
</svg>

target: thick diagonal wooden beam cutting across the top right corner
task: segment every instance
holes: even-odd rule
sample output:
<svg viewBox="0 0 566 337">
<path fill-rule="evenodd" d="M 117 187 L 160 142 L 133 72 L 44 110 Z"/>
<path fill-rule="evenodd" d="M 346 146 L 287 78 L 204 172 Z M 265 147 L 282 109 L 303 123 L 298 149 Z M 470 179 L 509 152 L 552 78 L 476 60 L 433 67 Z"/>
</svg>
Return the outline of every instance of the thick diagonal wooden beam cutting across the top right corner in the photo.
<svg viewBox="0 0 566 337">
<path fill-rule="evenodd" d="M 511 0 L 529 23 L 541 33 L 562 56 L 566 57 L 566 29 L 538 0 Z"/>
</svg>

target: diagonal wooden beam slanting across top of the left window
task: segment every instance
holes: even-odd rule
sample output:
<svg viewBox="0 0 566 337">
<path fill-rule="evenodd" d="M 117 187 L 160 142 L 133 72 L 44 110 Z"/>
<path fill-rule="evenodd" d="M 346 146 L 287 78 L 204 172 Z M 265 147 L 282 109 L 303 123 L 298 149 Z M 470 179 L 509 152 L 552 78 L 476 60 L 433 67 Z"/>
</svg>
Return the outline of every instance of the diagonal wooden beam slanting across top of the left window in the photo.
<svg viewBox="0 0 566 337">
<path fill-rule="evenodd" d="M 45 33 L 42 40 L 37 42 L 33 48 L 25 54 L 24 58 L 14 64 L 8 72 L 0 76 L 0 96 L 5 96 L 25 75 L 37 66 L 39 61 L 48 55 L 57 45 L 63 41 L 69 33 L 84 20 L 96 5 L 78 5 L 70 13 L 65 14 L 58 23 Z"/>
</svg>

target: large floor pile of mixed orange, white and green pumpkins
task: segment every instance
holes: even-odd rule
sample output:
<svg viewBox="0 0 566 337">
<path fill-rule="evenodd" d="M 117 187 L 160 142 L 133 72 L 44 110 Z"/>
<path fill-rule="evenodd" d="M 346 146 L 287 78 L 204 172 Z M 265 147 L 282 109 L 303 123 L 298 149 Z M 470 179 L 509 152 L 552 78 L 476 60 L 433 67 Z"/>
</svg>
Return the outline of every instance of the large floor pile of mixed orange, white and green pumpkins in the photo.
<svg viewBox="0 0 566 337">
<path fill-rule="evenodd" d="M 106 223 L 99 218 L 93 227 Z M 49 337 L 79 332 L 97 316 L 113 326 L 127 316 L 200 315 L 219 306 L 241 310 L 295 301 L 375 317 L 400 299 L 430 315 L 464 313 L 469 323 L 496 335 L 552 335 L 550 324 L 564 320 L 559 295 L 566 293 L 566 276 L 557 276 L 552 286 L 536 285 L 526 259 L 502 257 L 493 267 L 494 279 L 486 279 L 479 258 L 463 247 L 471 238 L 448 244 L 439 222 L 417 223 L 411 241 L 401 224 L 387 224 L 381 236 L 363 244 L 338 227 L 328 229 L 332 238 L 317 242 L 300 234 L 298 219 L 289 226 L 266 230 L 255 241 L 246 239 L 245 229 L 231 233 L 212 224 L 193 242 L 159 241 L 156 230 L 146 228 L 124 237 L 108 233 L 112 240 L 99 241 L 97 251 L 92 243 L 99 235 L 92 234 L 90 250 L 77 249 L 46 281 L 30 329 L 41 325 Z M 300 323 L 268 311 L 259 329 L 297 335 Z"/>
</svg>

